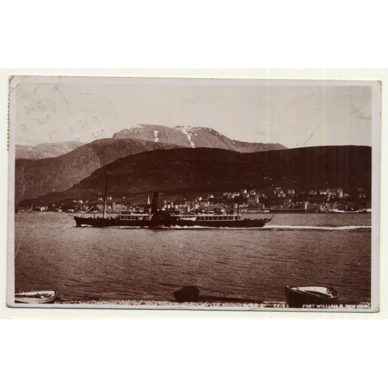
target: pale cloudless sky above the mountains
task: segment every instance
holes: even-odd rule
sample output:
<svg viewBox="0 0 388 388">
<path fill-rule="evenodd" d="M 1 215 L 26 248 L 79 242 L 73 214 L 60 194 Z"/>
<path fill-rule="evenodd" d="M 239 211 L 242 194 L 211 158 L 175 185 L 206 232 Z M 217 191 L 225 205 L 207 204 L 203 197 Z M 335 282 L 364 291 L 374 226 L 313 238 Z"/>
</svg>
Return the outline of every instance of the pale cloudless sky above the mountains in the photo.
<svg viewBox="0 0 388 388">
<path fill-rule="evenodd" d="M 154 124 L 209 127 L 233 140 L 288 148 L 372 146 L 371 86 L 72 80 L 17 85 L 16 144 L 88 143 Z"/>
</svg>

